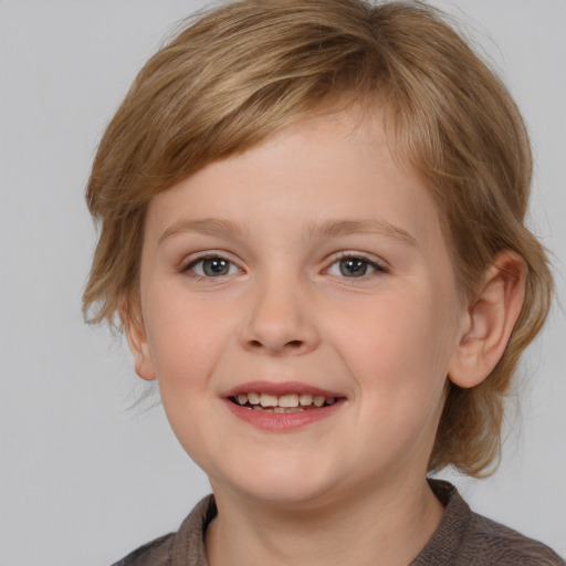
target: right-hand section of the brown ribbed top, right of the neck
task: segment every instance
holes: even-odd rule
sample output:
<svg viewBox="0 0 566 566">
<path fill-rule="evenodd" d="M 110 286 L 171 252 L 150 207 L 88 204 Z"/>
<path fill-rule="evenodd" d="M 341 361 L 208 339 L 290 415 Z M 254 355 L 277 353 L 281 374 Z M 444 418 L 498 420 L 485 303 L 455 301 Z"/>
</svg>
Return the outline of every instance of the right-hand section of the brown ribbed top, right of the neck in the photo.
<svg viewBox="0 0 566 566">
<path fill-rule="evenodd" d="M 566 565 L 543 543 L 473 513 L 450 483 L 439 480 L 431 480 L 429 483 L 446 507 L 444 516 L 411 566 Z"/>
</svg>

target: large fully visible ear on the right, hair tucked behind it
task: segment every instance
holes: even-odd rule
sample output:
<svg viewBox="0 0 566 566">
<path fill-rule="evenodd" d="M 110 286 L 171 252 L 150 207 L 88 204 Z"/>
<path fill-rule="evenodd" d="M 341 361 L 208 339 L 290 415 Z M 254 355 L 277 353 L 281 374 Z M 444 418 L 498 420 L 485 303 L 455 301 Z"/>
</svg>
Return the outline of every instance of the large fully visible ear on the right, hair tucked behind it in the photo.
<svg viewBox="0 0 566 566">
<path fill-rule="evenodd" d="M 523 307 L 526 265 L 504 251 L 486 270 L 463 316 L 460 340 L 448 377 L 463 388 L 481 384 L 503 356 Z"/>
</svg>

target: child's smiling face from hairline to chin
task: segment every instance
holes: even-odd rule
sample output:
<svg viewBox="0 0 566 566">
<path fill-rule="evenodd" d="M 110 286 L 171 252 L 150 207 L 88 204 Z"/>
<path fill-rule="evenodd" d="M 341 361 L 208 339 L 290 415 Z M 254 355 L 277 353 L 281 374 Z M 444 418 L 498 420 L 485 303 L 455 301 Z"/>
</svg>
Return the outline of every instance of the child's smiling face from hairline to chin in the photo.
<svg viewBox="0 0 566 566">
<path fill-rule="evenodd" d="M 423 481 L 465 307 L 434 203 L 378 118 L 305 120 L 154 198 L 140 304 L 137 370 L 217 494 Z M 253 394 L 336 402 L 273 412 Z"/>
</svg>

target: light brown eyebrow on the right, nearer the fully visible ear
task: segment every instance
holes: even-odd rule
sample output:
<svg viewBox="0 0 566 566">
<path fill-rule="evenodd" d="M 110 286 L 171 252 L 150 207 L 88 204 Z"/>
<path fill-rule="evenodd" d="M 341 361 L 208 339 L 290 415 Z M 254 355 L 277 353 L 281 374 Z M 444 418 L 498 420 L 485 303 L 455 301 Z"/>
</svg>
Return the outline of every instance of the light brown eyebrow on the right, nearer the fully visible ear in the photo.
<svg viewBox="0 0 566 566">
<path fill-rule="evenodd" d="M 418 248 L 417 239 L 407 230 L 392 224 L 382 218 L 325 220 L 322 223 L 312 223 L 307 234 L 322 237 L 339 237 L 350 234 L 379 234 L 394 238 L 402 243 Z"/>
</svg>

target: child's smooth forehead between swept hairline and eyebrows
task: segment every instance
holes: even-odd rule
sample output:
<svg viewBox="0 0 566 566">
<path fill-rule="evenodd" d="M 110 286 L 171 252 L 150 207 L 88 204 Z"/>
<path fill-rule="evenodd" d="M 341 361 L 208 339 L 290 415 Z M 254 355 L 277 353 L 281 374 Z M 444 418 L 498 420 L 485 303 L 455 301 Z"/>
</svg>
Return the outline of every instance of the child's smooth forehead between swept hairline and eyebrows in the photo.
<svg viewBox="0 0 566 566">
<path fill-rule="evenodd" d="M 175 223 L 227 220 L 241 230 L 293 220 L 302 233 L 329 220 L 396 227 L 407 239 L 438 228 L 432 198 L 396 159 L 382 113 L 326 113 L 208 165 L 153 199 L 154 238 Z M 328 232 L 328 231 L 327 231 Z"/>
</svg>

